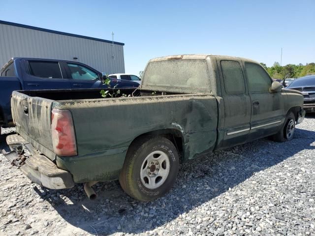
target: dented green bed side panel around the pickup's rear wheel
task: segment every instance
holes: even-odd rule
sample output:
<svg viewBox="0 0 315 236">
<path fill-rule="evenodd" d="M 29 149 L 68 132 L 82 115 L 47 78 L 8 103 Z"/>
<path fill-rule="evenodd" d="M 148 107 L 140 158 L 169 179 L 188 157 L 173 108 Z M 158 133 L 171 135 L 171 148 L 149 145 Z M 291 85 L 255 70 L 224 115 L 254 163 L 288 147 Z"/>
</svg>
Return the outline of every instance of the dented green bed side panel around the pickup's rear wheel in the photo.
<svg viewBox="0 0 315 236">
<path fill-rule="evenodd" d="M 76 182 L 117 179 L 126 151 L 138 136 L 175 129 L 184 139 L 184 161 L 213 150 L 218 111 L 213 95 L 187 94 L 54 102 L 72 113 L 76 157 L 59 157 Z"/>
</svg>

